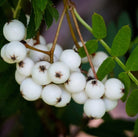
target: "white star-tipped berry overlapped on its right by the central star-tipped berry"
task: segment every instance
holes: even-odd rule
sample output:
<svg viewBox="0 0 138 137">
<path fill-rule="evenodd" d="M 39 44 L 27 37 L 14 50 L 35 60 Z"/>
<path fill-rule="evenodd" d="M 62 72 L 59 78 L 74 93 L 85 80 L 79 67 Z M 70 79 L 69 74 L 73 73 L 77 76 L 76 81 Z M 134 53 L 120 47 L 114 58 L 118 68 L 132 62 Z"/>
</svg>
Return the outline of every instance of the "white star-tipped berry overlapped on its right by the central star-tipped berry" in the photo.
<svg viewBox="0 0 138 137">
<path fill-rule="evenodd" d="M 48 75 L 50 63 L 46 61 L 37 62 L 32 70 L 32 79 L 39 85 L 46 85 L 51 82 Z"/>
</svg>

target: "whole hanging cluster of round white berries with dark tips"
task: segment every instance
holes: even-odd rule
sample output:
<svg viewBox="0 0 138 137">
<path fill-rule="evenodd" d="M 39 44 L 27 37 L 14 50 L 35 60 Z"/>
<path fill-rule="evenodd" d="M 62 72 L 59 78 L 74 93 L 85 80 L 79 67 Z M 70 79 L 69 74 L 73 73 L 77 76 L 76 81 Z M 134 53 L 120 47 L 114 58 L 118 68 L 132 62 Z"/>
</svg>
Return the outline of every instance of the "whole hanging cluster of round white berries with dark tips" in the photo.
<svg viewBox="0 0 138 137">
<path fill-rule="evenodd" d="M 123 96 L 124 85 L 116 79 L 107 76 L 103 81 L 94 78 L 90 69 L 87 75 L 81 73 L 81 59 L 73 49 L 63 51 L 56 45 L 54 63 L 49 63 L 49 56 L 42 52 L 26 49 L 21 40 L 25 40 L 25 27 L 18 20 L 6 23 L 3 34 L 9 41 L 1 49 L 1 57 L 7 63 L 16 63 L 15 79 L 20 85 L 24 99 L 34 101 L 41 98 L 48 105 L 66 106 L 71 98 L 78 104 L 84 104 L 84 113 L 88 117 L 101 118 L 106 111 L 117 106 L 118 99 Z M 40 36 L 40 44 L 34 39 L 25 40 L 30 46 L 39 50 L 49 51 L 52 43 L 46 44 Z M 81 43 L 79 43 L 81 45 Z M 95 70 L 107 58 L 104 52 L 91 56 Z"/>
</svg>

